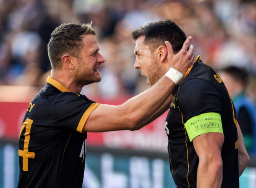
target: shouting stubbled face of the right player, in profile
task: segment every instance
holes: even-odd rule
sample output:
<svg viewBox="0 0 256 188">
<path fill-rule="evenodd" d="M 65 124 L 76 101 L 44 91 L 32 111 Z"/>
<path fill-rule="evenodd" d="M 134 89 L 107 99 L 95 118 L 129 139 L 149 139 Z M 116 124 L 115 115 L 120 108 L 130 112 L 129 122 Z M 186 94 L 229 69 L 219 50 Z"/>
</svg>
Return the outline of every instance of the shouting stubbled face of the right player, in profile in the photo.
<svg viewBox="0 0 256 188">
<path fill-rule="evenodd" d="M 139 69 L 141 75 L 147 77 L 147 84 L 152 87 L 163 75 L 156 52 L 151 52 L 149 46 L 144 44 L 144 39 L 145 36 L 141 36 L 136 40 L 134 68 Z"/>
</svg>

